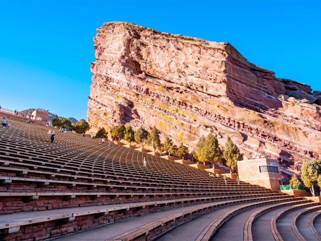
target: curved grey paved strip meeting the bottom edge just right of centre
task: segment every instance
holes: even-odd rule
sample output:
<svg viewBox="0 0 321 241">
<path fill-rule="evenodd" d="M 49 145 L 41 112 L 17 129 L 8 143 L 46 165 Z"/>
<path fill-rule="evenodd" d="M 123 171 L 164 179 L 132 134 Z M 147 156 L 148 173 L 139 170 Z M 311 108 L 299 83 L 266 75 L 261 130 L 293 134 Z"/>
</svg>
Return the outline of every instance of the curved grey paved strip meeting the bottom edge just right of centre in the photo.
<svg viewBox="0 0 321 241">
<path fill-rule="evenodd" d="M 213 221 L 213 219 L 219 217 L 223 213 L 234 209 L 236 207 L 241 207 L 243 204 L 234 205 L 230 207 L 225 207 L 222 209 L 215 210 L 213 212 L 204 214 L 200 217 L 197 217 L 187 223 L 184 223 L 170 232 L 164 234 L 163 236 L 156 239 L 157 241 L 178 241 L 178 240 L 184 240 L 184 241 L 194 241 L 198 235 L 203 231 L 203 229 Z"/>
</svg>

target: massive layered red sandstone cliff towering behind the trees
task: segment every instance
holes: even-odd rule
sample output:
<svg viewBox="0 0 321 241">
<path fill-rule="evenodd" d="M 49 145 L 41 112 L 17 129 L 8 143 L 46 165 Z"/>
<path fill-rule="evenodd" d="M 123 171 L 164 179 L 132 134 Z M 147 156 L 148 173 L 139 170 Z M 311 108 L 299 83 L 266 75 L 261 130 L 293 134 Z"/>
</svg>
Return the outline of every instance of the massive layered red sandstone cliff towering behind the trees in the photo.
<svg viewBox="0 0 321 241">
<path fill-rule="evenodd" d="M 190 149 L 213 133 L 222 146 L 230 136 L 245 157 L 278 158 L 283 167 L 321 158 L 321 112 L 311 88 L 276 78 L 229 43 L 121 22 L 97 29 L 94 42 L 92 132 L 155 125 Z"/>
</svg>

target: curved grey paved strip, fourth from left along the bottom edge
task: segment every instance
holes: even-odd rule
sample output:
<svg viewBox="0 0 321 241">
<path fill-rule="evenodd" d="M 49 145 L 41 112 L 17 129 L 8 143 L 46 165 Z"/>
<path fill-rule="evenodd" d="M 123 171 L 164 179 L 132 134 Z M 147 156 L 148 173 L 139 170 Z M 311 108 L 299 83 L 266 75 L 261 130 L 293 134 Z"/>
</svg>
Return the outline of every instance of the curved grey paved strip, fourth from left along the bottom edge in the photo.
<svg viewBox="0 0 321 241">
<path fill-rule="evenodd" d="M 275 241 L 270 228 L 271 219 L 276 213 L 286 208 L 288 206 L 272 210 L 257 218 L 252 225 L 253 240 Z"/>
</svg>

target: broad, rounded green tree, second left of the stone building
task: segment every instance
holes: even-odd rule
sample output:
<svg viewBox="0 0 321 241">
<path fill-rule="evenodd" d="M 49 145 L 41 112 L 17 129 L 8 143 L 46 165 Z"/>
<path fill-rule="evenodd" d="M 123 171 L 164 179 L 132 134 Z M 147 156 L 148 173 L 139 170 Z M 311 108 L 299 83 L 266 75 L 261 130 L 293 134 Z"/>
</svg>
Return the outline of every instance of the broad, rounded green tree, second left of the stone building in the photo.
<svg viewBox="0 0 321 241">
<path fill-rule="evenodd" d="M 204 164 L 206 162 L 213 164 L 215 169 L 215 162 L 222 162 L 222 150 L 219 142 L 213 134 L 209 134 L 205 140 L 202 150 L 198 154 L 198 159 Z"/>
</svg>

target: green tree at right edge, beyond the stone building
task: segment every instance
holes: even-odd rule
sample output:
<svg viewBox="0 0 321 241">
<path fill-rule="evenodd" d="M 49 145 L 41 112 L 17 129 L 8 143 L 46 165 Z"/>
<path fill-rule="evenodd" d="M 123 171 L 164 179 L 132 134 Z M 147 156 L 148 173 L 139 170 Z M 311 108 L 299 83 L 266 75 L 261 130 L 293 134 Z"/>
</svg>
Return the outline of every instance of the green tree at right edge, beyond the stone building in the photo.
<svg viewBox="0 0 321 241">
<path fill-rule="evenodd" d="M 301 166 L 301 172 L 301 180 L 306 187 L 310 188 L 314 196 L 314 185 L 317 184 L 318 177 L 321 174 L 321 162 L 315 160 L 305 161 Z"/>
</svg>

